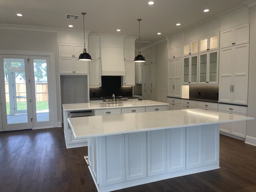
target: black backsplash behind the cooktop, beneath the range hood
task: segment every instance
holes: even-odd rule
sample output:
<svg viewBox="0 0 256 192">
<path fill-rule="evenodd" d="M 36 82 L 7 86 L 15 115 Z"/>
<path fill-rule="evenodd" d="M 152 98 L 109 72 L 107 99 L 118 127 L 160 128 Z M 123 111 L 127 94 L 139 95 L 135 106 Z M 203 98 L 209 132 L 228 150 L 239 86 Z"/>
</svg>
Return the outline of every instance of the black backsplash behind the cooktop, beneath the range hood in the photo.
<svg viewBox="0 0 256 192">
<path fill-rule="evenodd" d="M 101 87 L 90 87 L 90 98 L 132 96 L 132 86 L 121 86 L 121 76 L 101 76 Z"/>
</svg>

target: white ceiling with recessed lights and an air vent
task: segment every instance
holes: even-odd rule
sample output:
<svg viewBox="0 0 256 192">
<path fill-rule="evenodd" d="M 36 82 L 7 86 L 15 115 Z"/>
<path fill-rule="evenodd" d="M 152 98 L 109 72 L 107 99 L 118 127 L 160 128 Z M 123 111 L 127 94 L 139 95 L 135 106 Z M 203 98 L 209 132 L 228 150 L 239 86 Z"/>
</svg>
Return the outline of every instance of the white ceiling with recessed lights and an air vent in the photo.
<svg viewBox="0 0 256 192">
<path fill-rule="evenodd" d="M 141 42 L 154 42 L 218 14 L 242 6 L 248 0 L 1 0 L 0 24 L 41 26 L 85 30 L 94 33 L 120 34 L 138 37 Z M 205 13 L 204 9 L 210 11 Z M 23 14 L 22 17 L 16 16 Z M 79 15 L 78 20 L 66 19 L 66 14 Z M 176 23 L 181 23 L 176 26 Z M 116 29 L 121 29 L 117 32 Z M 157 35 L 161 32 L 161 35 Z"/>
</svg>

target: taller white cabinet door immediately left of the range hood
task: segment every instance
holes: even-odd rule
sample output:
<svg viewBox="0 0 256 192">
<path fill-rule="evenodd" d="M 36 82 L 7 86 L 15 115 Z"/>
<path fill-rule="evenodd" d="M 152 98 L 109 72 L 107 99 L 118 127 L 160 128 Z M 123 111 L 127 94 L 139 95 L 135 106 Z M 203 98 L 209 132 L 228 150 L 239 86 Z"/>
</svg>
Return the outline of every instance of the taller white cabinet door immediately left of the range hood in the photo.
<svg viewBox="0 0 256 192">
<path fill-rule="evenodd" d="M 89 84 L 101 87 L 100 60 L 89 61 Z"/>
</svg>

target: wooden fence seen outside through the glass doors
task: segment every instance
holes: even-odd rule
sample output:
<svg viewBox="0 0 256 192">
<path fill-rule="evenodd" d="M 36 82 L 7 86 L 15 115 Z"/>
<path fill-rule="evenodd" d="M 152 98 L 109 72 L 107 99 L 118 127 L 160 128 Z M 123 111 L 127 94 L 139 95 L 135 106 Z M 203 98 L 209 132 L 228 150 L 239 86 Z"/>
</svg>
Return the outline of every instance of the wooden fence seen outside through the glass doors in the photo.
<svg viewBox="0 0 256 192">
<path fill-rule="evenodd" d="M 48 101 L 48 85 L 47 82 L 35 82 L 36 101 Z M 26 96 L 26 83 L 16 84 L 16 96 Z M 9 99 L 9 85 L 5 84 L 5 97 L 6 103 L 10 102 Z M 18 98 L 17 102 L 26 102 L 26 98 Z"/>
</svg>

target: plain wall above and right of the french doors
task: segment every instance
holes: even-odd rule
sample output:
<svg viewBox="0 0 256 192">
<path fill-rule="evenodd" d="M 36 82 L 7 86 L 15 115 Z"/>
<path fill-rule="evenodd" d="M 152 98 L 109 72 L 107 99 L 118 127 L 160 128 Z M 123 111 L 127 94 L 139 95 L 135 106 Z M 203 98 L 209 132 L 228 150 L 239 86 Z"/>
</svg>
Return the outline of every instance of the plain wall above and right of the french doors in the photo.
<svg viewBox="0 0 256 192">
<path fill-rule="evenodd" d="M 33 50 L 55 53 L 57 101 L 60 100 L 58 77 L 58 47 L 56 32 L 0 29 L 0 50 Z M 4 37 L 4 38 L 3 38 Z M 1 51 L 0 51 L 1 53 Z M 57 105 L 58 122 L 61 121 L 60 106 Z"/>
</svg>

